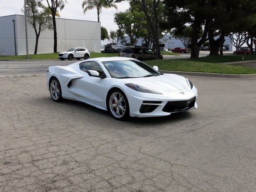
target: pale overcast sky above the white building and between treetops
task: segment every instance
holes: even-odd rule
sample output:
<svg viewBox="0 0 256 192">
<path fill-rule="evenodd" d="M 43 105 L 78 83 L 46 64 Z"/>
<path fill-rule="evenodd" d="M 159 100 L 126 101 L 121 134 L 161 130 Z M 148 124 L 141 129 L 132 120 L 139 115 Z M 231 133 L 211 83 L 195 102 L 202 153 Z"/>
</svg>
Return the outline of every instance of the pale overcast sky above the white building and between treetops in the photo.
<svg viewBox="0 0 256 192">
<path fill-rule="evenodd" d="M 43 0 L 46 3 L 46 0 Z M 63 19 L 77 19 L 85 21 L 98 21 L 97 10 L 89 10 L 83 13 L 82 8 L 83 0 L 67 0 L 65 7 L 60 11 L 60 18 Z M 24 0 L 0 0 L 0 17 L 14 14 L 22 14 L 21 8 L 23 7 Z M 114 14 L 116 12 L 125 11 L 129 8 L 129 3 L 117 3 L 118 10 L 115 8 L 102 9 L 100 14 L 101 26 L 107 28 L 108 31 L 116 30 L 117 25 L 114 22 Z"/>
</svg>

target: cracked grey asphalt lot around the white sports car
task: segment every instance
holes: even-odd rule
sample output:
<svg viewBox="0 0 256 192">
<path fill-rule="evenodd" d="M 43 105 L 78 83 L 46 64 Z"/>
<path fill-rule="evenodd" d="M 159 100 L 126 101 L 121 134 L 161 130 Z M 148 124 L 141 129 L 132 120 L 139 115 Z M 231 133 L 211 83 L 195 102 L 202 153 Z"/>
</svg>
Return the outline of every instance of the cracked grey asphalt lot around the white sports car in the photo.
<svg viewBox="0 0 256 192">
<path fill-rule="evenodd" d="M 0 191 L 255 192 L 256 78 L 189 79 L 198 109 L 120 122 L 0 77 Z"/>
</svg>

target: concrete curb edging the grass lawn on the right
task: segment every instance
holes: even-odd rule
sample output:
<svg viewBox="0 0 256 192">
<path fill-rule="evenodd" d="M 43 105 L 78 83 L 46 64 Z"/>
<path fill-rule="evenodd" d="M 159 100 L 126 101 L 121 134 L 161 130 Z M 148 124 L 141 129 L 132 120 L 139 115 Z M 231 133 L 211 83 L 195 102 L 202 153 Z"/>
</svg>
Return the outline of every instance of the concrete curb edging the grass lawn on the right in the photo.
<svg viewBox="0 0 256 192">
<path fill-rule="evenodd" d="M 192 76 L 204 76 L 204 77 L 228 77 L 228 78 L 250 78 L 256 77 L 256 74 L 222 74 L 222 73 L 198 73 L 198 72 L 185 72 L 185 71 L 163 71 L 160 73 L 173 73 L 176 75 L 192 75 Z"/>
</svg>

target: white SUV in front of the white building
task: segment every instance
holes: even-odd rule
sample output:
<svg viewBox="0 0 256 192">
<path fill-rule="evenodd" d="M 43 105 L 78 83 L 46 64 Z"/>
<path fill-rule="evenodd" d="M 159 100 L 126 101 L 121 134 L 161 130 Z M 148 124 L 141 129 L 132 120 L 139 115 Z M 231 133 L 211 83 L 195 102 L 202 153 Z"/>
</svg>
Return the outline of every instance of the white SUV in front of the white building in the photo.
<svg viewBox="0 0 256 192">
<path fill-rule="evenodd" d="M 83 47 L 77 47 L 77 48 L 70 48 L 66 52 L 60 52 L 59 53 L 59 59 L 60 60 L 72 60 L 77 59 L 80 60 L 81 58 L 89 59 L 90 52 L 88 49 Z"/>
</svg>

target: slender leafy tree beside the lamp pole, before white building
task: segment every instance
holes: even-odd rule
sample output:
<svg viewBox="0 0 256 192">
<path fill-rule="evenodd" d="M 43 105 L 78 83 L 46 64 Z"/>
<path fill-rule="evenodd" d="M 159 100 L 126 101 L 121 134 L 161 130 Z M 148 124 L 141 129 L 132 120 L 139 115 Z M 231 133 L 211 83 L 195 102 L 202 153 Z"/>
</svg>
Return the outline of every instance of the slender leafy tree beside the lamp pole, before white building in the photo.
<svg viewBox="0 0 256 192">
<path fill-rule="evenodd" d="M 21 9 L 21 11 L 25 13 L 25 9 Z M 49 16 L 47 7 L 42 4 L 42 0 L 26 0 L 26 13 L 28 15 L 28 23 L 31 24 L 35 30 L 34 54 L 37 54 L 40 33 L 46 28 L 52 29 L 52 17 Z"/>
</svg>

